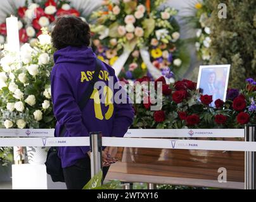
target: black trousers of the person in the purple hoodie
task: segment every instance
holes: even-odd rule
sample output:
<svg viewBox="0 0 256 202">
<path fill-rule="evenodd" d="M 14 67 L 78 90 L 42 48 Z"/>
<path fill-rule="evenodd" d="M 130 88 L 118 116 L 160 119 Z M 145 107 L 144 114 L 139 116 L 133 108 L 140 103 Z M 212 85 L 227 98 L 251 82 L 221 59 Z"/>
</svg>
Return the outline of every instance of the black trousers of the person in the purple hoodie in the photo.
<svg viewBox="0 0 256 202">
<path fill-rule="evenodd" d="M 103 167 L 103 179 L 105 179 L 109 167 Z M 67 189 L 82 189 L 91 179 L 91 160 L 87 155 L 70 167 L 63 169 Z"/>
</svg>

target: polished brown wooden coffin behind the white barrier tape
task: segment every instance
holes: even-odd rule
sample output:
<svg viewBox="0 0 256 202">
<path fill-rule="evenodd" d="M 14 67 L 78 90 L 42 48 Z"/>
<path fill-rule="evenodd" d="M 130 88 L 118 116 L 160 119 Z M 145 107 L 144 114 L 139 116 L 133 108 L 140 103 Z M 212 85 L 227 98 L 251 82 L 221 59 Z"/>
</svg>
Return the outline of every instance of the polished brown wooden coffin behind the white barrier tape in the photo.
<svg viewBox="0 0 256 202">
<path fill-rule="evenodd" d="M 244 188 L 243 151 L 118 148 L 106 179 L 219 188 Z M 227 182 L 218 176 L 226 169 Z M 223 173 L 222 173 L 223 174 Z M 219 178 L 223 179 L 223 177 Z"/>
</svg>

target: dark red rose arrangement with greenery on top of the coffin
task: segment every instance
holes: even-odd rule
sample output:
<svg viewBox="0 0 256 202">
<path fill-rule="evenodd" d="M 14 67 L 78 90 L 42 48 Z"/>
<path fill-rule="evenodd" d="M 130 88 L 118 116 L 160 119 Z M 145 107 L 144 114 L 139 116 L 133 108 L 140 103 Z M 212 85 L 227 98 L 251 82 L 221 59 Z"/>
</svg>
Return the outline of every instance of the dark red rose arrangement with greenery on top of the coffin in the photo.
<svg viewBox="0 0 256 202">
<path fill-rule="evenodd" d="M 256 124 L 255 81 L 250 81 L 249 89 L 245 85 L 240 90 L 229 90 L 226 102 L 217 99 L 215 107 L 205 107 L 212 102 L 212 95 L 200 94 L 193 81 L 167 84 L 163 77 L 157 81 L 162 82 L 163 92 L 168 90 L 163 93 L 162 109 L 151 111 L 155 105 L 151 102 L 134 104 L 132 128 L 243 128 L 244 124 Z"/>
</svg>

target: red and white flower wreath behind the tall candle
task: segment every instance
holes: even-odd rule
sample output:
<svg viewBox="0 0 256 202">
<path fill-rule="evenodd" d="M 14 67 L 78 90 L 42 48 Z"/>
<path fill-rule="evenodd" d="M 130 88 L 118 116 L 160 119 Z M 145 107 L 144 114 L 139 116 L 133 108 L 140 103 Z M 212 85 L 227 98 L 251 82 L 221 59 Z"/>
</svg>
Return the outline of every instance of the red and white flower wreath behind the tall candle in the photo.
<svg viewBox="0 0 256 202">
<path fill-rule="evenodd" d="M 20 21 L 20 42 L 26 43 L 41 34 L 42 27 L 48 27 L 61 15 L 80 16 L 79 11 L 70 7 L 69 1 L 44 0 L 39 4 L 20 6 L 16 16 Z M 0 24 L 0 34 L 6 36 L 6 23 Z"/>
</svg>

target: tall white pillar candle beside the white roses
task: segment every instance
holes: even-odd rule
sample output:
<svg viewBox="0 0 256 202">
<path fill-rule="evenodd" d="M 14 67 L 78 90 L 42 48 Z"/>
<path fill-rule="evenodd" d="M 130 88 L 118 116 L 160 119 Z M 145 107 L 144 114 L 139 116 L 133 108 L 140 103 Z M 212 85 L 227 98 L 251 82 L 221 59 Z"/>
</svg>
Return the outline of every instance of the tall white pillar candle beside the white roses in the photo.
<svg viewBox="0 0 256 202">
<path fill-rule="evenodd" d="M 18 34 L 18 18 L 11 16 L 6 18 L 8 49 L 13 52 L 20 51 L 20 39 Z"/>
</svg>

